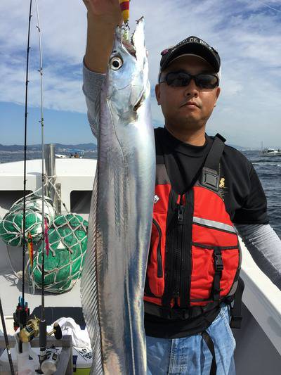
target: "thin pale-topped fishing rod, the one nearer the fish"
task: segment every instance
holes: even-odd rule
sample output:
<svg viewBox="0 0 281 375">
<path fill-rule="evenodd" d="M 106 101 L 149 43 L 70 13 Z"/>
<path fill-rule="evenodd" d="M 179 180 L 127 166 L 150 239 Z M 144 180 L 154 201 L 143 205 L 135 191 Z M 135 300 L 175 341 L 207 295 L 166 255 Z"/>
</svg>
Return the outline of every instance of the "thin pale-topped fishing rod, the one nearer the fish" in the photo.
<svg viewBox="0 0 281 375">
<path fill-rule="evenodd" d="M 45 210 L 44 210 L 44 198 L 45 198 L 45 174 L 44 174 L 44 115 L 43 115 L 43 62 L 42 62 L 42 45 L 41 45 L 41 27 L 39 20 L 39 8 L 37 0 L 35 0 L 36 12 L 37 12 L 37 30 L 39 37 L 39 58 L 40 58 L 40 92 L 41 92 L 41 190 L 42 190 L 42 251 L 41 251 L 41 319 L 39 323 L 39 345 L 40 345 L 40 364 L 46 360 L 46 345 L 47 345 L 47 333 L 46 333 L 46 319 L 45 319 L 45 295 L 44 295 L 44 279 L 45 279 L 45 245 L 46 241 L 46 220 L 45 220 Z M 45 236 L 46 233 L 46 236 Z"/>
</svg>

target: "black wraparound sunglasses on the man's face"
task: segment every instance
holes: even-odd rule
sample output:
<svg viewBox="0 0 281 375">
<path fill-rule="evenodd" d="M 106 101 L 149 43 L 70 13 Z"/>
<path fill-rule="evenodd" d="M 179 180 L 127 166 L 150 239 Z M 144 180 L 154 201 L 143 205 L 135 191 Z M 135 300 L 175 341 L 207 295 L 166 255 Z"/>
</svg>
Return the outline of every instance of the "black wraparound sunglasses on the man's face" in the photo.
<svg viewBox="0 0 281 375">
<path fill-rule="evenodd" d="M 218 86 L 218 76 L 209 73 L 199 73 L 197 75 L 190 75 L 187 72 L 169 72 L 159 80 L 159 83 L 166 82 L 171 87 L 184 87 L 190 84 L 191 80 L 200 89 L 214 89 Z"/>
</svg>

